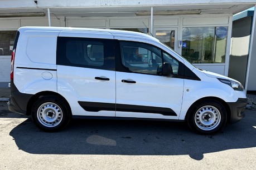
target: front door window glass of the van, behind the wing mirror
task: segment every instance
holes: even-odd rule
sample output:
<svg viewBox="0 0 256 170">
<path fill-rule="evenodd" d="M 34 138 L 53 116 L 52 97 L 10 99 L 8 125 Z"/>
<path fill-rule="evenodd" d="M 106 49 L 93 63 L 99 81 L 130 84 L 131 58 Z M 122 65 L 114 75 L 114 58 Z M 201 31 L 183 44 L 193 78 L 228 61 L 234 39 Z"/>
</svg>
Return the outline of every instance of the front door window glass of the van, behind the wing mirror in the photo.
<svg viewBox="0 0 256 170">
<path fill-rule="evenodd" d="M 149 44 L 120 42 L 122 64 L 129 71 L 160 75 L 162 73 L 161 50 Z"/>
</svg>

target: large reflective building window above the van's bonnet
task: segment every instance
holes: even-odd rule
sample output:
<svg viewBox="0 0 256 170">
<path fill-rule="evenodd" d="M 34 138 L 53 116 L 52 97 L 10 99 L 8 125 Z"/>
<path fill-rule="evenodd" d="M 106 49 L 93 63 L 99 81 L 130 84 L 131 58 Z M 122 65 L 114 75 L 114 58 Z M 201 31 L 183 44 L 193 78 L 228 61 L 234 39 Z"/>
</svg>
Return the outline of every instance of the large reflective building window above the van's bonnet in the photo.
<svg viewBox="0 0 256 170">
<path fill-rule="evenodd" d="M 185 27 L 182 56 L 191 63 L 225 63 L 227 27 Z"/>
</svg>

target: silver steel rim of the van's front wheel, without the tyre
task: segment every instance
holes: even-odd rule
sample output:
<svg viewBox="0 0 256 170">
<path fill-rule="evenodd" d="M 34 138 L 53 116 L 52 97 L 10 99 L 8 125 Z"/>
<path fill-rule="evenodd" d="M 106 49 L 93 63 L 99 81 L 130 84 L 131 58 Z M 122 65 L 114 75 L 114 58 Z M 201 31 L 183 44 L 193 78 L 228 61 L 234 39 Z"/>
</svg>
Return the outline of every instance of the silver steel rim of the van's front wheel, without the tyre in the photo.
<svg viewBox="0 0 256 170">
<path fill-rule="evenodd" d="M 196 126 L 204 131 L 211 131 L 219 126 L 221 115 L 214 106 L 203 106 L 195 114 Z"/>
</svg>

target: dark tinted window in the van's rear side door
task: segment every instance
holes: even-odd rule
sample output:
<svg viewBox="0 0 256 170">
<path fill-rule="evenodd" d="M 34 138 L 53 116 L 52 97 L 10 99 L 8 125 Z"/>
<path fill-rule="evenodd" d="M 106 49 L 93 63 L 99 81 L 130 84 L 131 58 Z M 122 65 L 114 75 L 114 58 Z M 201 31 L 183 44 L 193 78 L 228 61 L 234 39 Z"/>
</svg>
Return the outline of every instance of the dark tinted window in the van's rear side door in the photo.
<svg viewBox="0 0 256 170">
<path fill-rule="evenodd" d="M 112 39 L 58 37 L 57 64 L 115 70 Z"/>
</svg>

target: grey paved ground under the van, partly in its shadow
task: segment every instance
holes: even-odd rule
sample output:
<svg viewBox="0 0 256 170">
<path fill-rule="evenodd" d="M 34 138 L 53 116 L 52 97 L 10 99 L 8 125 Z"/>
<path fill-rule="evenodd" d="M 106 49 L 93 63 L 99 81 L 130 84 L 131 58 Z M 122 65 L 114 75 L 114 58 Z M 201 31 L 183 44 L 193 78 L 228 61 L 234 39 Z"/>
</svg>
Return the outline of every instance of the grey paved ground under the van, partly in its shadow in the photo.
<svg viewBox="0 0 256 170">
<path fill-rule="evenodd" d="M 214 136 L 183 123 L 73 120 L 46 133 L 0 102 L 0 169 L 255 169 L 256 111 Z"/>
</svg>

